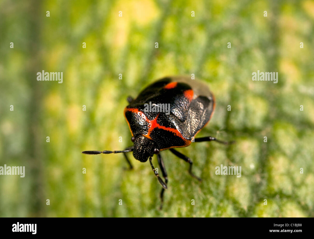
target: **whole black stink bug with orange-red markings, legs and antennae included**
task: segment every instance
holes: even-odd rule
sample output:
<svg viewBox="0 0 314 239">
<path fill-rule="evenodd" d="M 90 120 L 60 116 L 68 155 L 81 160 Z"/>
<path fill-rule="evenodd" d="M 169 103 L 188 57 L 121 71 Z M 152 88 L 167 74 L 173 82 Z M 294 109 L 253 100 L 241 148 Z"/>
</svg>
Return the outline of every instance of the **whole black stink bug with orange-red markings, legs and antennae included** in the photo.
<svg viewBox="0 0 314 239">
<path fill-rule="evenodd" d="M 169 149 L 174 155 L 190 164 L 189 173 L 192 173 L 192 160 L 176 151 L 174 148 L 187 147 L 194 142 L 219 141 L 214 137 L 194 138 L 210 120 L 215 109 L 215 98 L 207 85 L 189 77 L 165 77 L 145 88 L 138 97 L 128 97 L 129 105 L 124 109 L 124 116 L 130 127 L 133 146 L 123 151 L 83 151 L 84 154 L 110 154 L 133 151 L 133 156 L 140 162 L 149 159 L 155 176 L 163 187 L 160 192 L 161 206 L 163 195 L 167 189 L 168 177 L 160 151 Z M 155 172 L 152 156 L 156 154 L 163 181 Z"/>
</svg>

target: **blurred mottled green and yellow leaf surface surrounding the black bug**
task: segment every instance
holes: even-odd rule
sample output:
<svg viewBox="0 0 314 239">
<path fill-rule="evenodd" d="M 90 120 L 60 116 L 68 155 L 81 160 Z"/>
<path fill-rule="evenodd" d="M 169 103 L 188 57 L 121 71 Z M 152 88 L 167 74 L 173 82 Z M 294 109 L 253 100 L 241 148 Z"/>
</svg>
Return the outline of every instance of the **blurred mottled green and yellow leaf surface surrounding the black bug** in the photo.
<svg viewBox="0 0 314 239">
<path fill-rule="evenodd" d="M 309 0 L 1 0 L 0 166 L 26 172 L 0 175 L 0 216 L 313 217 L 313 21 Z M 37 81 L 42 70 L 63 72 L 63 83 Z M 279 82 L 252 81 L 257 70 L 279 72 Z M 132 145 L 126 97 L 191 74 L 217 101 L 198 136 L 236 144 L 178 149 L 202 183 L 163 152 L 169 189 L 160 211 L 149 162 L 130 154 L 127 171 L 123 155 L 81 151 Z M 241 166 L 242 177 L 215 175 L 220 164 Z"/>
</svg>

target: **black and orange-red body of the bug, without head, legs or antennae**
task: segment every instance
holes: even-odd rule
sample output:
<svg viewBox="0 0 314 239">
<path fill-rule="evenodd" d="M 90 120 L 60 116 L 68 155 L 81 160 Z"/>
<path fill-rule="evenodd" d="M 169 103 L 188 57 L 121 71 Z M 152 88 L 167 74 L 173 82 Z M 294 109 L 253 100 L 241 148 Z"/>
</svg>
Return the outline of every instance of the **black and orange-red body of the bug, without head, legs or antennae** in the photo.
<svg viewBox="0 0 314 239">
<path fill-rule="evenodd" d="M 147 111 L 150 103 L 152 111 L 167 109 L 154 104 L 170 104 L 170 108 L 167 112 Z M 145 136 L 162 151 L 189 146 L 214 108 L 214 96 L 203 82 L 191 77 L 165 77 L 139 93 L 124 109 L 124 115 L 133 136 Z"/>
</svg>

